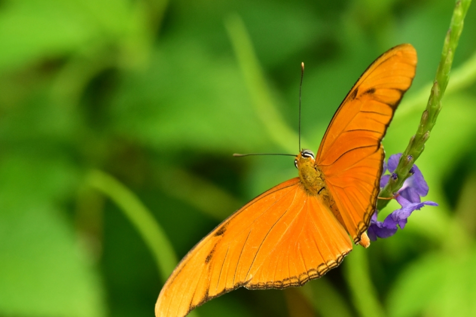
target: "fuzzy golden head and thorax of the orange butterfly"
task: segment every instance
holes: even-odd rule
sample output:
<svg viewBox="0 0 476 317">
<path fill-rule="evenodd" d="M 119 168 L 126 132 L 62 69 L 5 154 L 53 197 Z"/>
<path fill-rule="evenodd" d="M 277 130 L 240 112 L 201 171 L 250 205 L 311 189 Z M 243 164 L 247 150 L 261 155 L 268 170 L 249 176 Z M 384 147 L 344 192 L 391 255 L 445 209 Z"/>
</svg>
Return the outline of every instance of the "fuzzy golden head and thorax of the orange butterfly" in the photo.
<svg viewBox="0 0 476 317">
<path fill-rule="evenodd" d="M 324 181 L 324 174 L 316 166 L 314 153 L 312 153 L 312 151 L 302 150 L 297 154 L 295 164 L 299 171 L 299 179 L 307 193 L 310 195 L 329 197 Z"/>
</svg>

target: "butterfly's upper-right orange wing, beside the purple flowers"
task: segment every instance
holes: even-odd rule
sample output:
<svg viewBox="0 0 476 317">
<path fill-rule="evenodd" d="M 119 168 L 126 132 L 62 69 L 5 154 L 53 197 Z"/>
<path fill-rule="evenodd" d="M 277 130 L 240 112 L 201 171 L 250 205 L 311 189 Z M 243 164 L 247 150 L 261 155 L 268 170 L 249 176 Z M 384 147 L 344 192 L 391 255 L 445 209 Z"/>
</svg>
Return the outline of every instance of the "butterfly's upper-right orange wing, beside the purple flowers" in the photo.
<svg viewBox="0 0 476 317">
<path fill-rule="evenodd" d="M 316 165 L 356 243 L 376 207 L 384 158 L 380 142 L 415 70 L 412 45 L 383 53 L 349 91 L 319 146 Z"/>
</svg>

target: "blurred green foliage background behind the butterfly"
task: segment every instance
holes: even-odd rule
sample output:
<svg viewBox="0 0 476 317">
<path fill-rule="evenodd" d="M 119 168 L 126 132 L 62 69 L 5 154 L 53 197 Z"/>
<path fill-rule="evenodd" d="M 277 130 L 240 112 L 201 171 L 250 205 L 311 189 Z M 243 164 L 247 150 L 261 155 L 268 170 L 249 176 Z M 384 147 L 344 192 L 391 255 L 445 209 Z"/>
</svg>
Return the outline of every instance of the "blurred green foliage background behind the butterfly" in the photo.
<svg viewBox="0 0 476 317">
<path fill-rule="evenodd" d="M 0 0 L 0 316 L 151 316 L 165 273 L 150 250 L 182 257 L 240 204 L 296 176 L 289 157 L 231 154 L 297 151 L 301 61 L 303 145 L 316 150 L 368 64 L 413 44 L 414 85 L 384 140 L 402 152 L 453 6 Z M 476 315 L 475 35 L 473 6 L 416 162 L 440 206 L 297 292 L 240 289 L 198 315 Z M 157 221 L 152 233 L 127 206 Z M 160 245 L 147 240 L 161 230 Z"/>
</svg>

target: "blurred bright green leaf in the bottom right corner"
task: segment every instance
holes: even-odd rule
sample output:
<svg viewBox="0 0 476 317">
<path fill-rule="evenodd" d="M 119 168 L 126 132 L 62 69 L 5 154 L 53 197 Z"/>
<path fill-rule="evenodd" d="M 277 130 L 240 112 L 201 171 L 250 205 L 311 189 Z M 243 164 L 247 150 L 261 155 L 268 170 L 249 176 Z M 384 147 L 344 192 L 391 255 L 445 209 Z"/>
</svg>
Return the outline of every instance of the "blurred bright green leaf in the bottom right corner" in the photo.
<svg viewBox="0 0 476 317">
<path fill-rule="evenodd" d="M 475 266 L 474 248 L 418 259 L 398 277 L 390 292 L 390 316 L 475 316 Z"/>
</svg>

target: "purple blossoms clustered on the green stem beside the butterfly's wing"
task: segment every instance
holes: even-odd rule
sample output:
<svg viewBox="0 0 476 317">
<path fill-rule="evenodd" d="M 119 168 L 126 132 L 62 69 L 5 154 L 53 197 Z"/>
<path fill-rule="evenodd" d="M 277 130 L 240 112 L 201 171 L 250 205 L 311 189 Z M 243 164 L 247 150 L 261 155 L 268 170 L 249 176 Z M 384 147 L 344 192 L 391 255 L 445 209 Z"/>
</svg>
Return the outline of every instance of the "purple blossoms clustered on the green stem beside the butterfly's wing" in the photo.
<svg viewBox="0 0 476 317">
<path fill-rule="evenodd" d="M 381 177 L 380 187 L 385 187 L 390 177 L 394 180 L 397 178 L 397 174 L 395 174 L 394 171 L 397 168 L 401 156 L 401 153 L 394 154 L 388 159 L 388 165 L 384 162 L 383 173 L 385 173 L 388 168 L 388 171 L 392 174 L 383 175 Z M 409 162 L 412 159 L 410 155 L 407 157 Z M 367 229 L 370 240 L 375 241 L 377 237 L 388 238 L 394 235 L 395 232 L 397 232 L 398 226 L 403 229 L 407 224 L 408 217 L 410 217 L 415 210 L 419 210 L 424 205 L 438 206 L 438 204 L 433 201 L 421 202 L 420 196 L 426 196 L 426 194 L 428 194 L 428 184 L 416 165 L 412 167 L 410 173 L 413 175 L 404 182 L 402 188 L 396 194 L 396 200 L 402 208 L 393 211 L 383 222 L 377 220 L 377 211 L 372 215 L 370 226 Z"/>
</svg>

